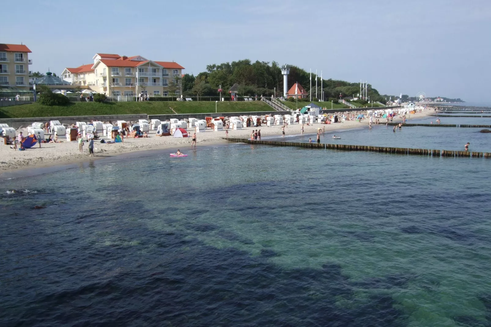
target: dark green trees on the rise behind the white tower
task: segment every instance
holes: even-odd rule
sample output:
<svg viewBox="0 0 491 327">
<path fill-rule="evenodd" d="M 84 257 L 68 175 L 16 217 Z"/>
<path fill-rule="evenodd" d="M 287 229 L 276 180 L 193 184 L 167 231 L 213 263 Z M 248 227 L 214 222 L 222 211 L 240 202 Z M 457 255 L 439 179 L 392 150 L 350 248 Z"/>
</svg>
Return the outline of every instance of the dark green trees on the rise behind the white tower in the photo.
<svg viewBox="0 0 491 327">
<path fill-rule="evenodd" d="M 290 66 L 288 75 L 288 89 L 296 82 L 309 93 L 310 73 L 297 66 Z M 312 85 L 315 85 L 316 77 L 312 74 Z M 201 72 L 197 76 L 186 74 L 174 84 L 169 84 L 169 90 L 181 88 L 183 95 L 191 96 L 218 96 L 218 89 L 221 86 L 222 96 L 228 96 L 228 90 L 235 84 L 239 84 L 239 96 L 263 95 L 276 96 L 283 94 L 283 75 L 277 62 L 271 64 L 266 61 L 251 62 L 249 59 L 212 64 L 206 66 L 206 72 Z M 340 98 L 357 97 L 360 93 L 358 82 L 350 83 L 339 80 L 323 80 L 324 99 L 337 100 Z M 318 91 L 315 94 L 315 87 L 312 89 L 312 98 L 321 98 L 321 78 L 317 77 Z M 308 94 L 310 96 L 310 94 Z M 370 100 L 385 103 L 385 97 L 379 94 L 377 89 L 368 84 L 367 95 Z"/>
</svg>

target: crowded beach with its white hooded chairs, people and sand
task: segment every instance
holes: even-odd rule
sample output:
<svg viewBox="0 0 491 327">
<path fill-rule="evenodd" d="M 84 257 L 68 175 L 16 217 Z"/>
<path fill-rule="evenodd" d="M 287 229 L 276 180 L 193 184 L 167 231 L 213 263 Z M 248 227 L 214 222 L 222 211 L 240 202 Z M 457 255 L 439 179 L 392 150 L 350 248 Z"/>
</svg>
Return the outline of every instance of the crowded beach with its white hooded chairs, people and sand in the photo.
<svg viewBox="0 0 491 327">
<path fill-rule="evenodd" d="M 396 121 L 402 121 L 404 115 L 415 118 L 426 115 L 428 112 L 429 110 L 421 110 L 421 112 L 414 113 L 397 112 L 392 118 L 396 119 Z M 321 127 L 324 134 L 356 128 L 369 125 L 375 122 L 375 119 L 382 119 L 383 114 L 385 113 L 382 109 L 376 111 L 346 111 L 318 115 L 314 120 L 309 120 L 306 117 L 307 115 L 292 115 L 291 112 L 286 111 L 278 112 L 276 115 L 224 116 L 220 118 L 221 124 L 214 124 L 215 120 L 205 121 L 206 126 L 204 129 L 194 126 L 198 121 L 198 119 L 194 118 L 179 121 L 171 119 L 165 122 L 147 122 L 146 120 L 137 122 L 92 121 L 55 126 L 52 126 L 50 122 L 35 123 L 37 124 L 36 126 L 32 126 L 35 125 L 33 123 L 31 126 L 21 126 L 14 129 L 14 135 L 12 135 L 11 131 L 7 142 L 9 144 L 0 146 L 0 156 L 2 158 L 0 171 L 31 166 L 77 163 L 141 150 L 173 149 L 178 147 L 183 149 L 187 145 L 191 148 L 192 139 L 195 139 L 195 143 L 197 143 L 199 148 L 213 143 L 226 142 L 224 140 L 226 137 L 249 138 L 252 133 L 252 138 L 254 138 L 257 132 L 259 132 L 260 137 L 312 134 L 315 138 L 315 134 L 319 132 Z M 281 117 L 280 122 L 276 120 L 278 116 Z M 293 116 L 293 119 L 289 116 Z M 385 121 L 385 119 L 383 118 L 382 121 Z M 237 128 L 237 120 L 241 121 L 243 127 Z M 99 127 L 94 126 L 98 124 L 104 125 L 104 129 L 99 130 Z M 221 128 L 219 128 L 220 126 L 217 128 L 214 125 L 221 125 Z M 174 137 L 172 134 L 177 128 L 184 130 L 187 133 L 186 136 L 189 137 Z M 61 135 L 60 131 L 65 131 L 65 134 Z M 71 135 L 66 131 L 70 131 Z M 41 142 L 36 142 L 33 147 L 28 148 L 26 151 L 20 151 L 19 135 L 22 133 L 22 137 L 27 137 L 35 132 L 37 132 L 39 138 L 37 141 Z M 42 136 L 40 136 L 41 134 Z M 4 143 L 4 140 L 3 138 L 2 143 Z M 89 146 L 91 148 L 90 152 Z M 94 155 L 95 158 L 89 158 L 89 155 Z"/>
</svg>

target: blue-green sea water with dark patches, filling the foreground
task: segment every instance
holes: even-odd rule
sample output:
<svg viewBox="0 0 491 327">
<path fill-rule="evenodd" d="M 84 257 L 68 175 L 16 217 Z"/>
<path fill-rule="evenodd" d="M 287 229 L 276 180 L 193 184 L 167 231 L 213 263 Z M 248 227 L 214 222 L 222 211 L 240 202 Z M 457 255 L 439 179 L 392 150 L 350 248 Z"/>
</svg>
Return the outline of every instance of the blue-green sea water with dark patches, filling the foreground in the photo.
<svg viewBox="0 0 491 327">
<path fill-rule="evenodd" d="M 339 141 L 459 131 L 410 129 Z M 491 324 L 490 160 L 186 153 L 1 181 L 0 325 Z"/>
</svg>

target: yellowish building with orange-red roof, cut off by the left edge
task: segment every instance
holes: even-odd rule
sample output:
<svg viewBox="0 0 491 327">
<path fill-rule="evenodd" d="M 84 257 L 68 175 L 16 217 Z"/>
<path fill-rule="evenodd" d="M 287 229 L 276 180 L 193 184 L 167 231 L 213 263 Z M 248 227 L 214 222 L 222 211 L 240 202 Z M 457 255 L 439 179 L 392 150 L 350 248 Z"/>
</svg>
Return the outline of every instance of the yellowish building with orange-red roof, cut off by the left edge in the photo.
<svg viewBox="0 0 491 327">
<path fill-rule="evenodd" d="M 15 90 L 29 91 L 28 58 L 31 53 L 23 44 L 0 44 L 0 86 Z"/>
</svg>

